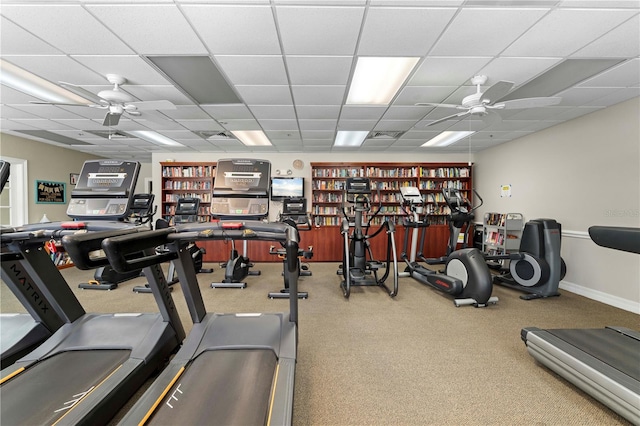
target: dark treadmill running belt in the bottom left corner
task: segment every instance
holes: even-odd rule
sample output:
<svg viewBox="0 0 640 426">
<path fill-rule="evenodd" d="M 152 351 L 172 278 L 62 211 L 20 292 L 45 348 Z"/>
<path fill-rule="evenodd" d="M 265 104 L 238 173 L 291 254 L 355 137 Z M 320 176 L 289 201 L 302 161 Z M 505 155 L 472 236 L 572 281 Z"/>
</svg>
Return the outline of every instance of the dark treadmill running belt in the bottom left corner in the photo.
<svg viewBox="0 0 640 426">
<path fill-rule="evenodd" d="M 53 424 L 125 362 L 128 350 L 68 351 L 40 361 L 0 387 L 2 424 Z"/>
</svg>

